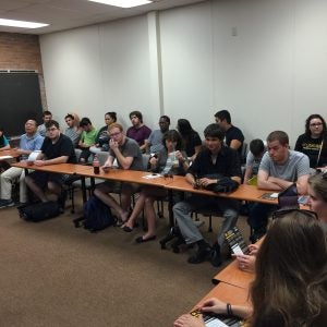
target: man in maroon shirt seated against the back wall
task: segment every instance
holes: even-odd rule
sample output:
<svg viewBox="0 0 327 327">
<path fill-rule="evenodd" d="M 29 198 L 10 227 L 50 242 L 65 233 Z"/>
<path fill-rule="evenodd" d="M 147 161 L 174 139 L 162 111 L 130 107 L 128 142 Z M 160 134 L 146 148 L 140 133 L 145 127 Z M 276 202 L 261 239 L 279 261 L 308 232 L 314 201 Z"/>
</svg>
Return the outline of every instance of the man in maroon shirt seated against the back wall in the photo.
<svg viewBox="0 0 327 327">
<path fill-rule="evenodd" d="M 132 126 L 128 129 L 126 135 L 130 138 L 135 140 L 141 150 L 144 153 L 146 148 L 145 141 L 148 138 L 152 130 L 143 123 L 143 116 L 140 111 L 132 111 L 130 113 L 130 120 L 132 122 Z"/>
</svg>

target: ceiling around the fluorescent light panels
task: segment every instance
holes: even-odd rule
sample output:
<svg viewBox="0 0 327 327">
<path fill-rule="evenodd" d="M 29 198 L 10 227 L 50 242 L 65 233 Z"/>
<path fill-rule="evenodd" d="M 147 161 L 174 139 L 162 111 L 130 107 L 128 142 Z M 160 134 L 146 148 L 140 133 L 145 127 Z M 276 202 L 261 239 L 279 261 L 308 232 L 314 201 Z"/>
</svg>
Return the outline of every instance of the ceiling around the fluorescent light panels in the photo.
<svg viewBox="0 0 327 327">
<path fill-rule="evenodd" d="M 47 34 L 186 5 L 204 0 L 153 0 L 154 3 L 123 9 L 87 0 L 0 0 L 0 19 L 47 23 L 36 29 L 0 26 L 0 32 Z"/>
</svg>

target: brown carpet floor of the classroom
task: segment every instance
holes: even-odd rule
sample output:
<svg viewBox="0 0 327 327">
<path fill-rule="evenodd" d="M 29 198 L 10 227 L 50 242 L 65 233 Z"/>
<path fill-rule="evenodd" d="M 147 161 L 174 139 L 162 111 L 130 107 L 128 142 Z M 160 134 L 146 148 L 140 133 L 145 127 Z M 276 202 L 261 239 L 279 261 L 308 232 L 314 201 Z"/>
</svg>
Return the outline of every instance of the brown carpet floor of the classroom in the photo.
<svg viewBox="0 0 327 327">
<path fill-rule="evenodd" d="M 15 207 L 0 210 L 0 326 L 172 326 L 213 288 L 210 263 L 187 264 L 192 250 L 160 250 L 167 218 L 158 219 L 157 241 L 136 244 L 141 228 L 74 228 L 81 210 L 78 199 L 76 214 L 68 207 L 38 223 Z M 239 226 L 246 233 L 243 217 Z M 207 221 L 202 230 L 215 239 Z"/>
</svg>

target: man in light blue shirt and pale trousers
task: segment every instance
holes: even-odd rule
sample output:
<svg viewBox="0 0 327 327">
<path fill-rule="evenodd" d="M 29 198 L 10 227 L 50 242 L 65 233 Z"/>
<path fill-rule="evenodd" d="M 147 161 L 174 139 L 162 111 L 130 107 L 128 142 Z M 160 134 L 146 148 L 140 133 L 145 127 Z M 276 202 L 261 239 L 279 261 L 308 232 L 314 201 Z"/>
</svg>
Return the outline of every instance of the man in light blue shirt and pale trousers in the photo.
<svg viewBox="0 0 327 327">
<path fill-rule="evenodd" d="M 21 136 L 20 147 L 16 149 L 16 153 L 21 156 L 21 160 L 26 160 L 31 153 L 40 149 L 43 143 L 44 137 L 37 133 L 36 121 L 29 119 L 25 123 L 25 134 Z M 11 207 L 14 205 L 12 199 L 12 184 L 17 178 L 20 179 L 20 202 L 22 204 L 27 202 L 25 170 L 19 167 L 11 167 L 0 175 L 0 208 Z"/>
</svg>

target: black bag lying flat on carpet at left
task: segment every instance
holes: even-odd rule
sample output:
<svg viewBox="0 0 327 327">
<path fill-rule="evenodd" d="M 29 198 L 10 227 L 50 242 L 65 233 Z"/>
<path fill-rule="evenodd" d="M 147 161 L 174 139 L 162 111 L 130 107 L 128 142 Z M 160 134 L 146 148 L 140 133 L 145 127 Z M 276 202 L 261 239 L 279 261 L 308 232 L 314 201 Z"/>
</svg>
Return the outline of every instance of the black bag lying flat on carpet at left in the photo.
<svg viewBox="0 0 327 327">
<path fill-rule="evenodd" d="M 17 209 L 22 219 L 34 222 L 50 219 L 61 214 L 60 205 L 51 201 L 24 204 Z"/>
</svg>

